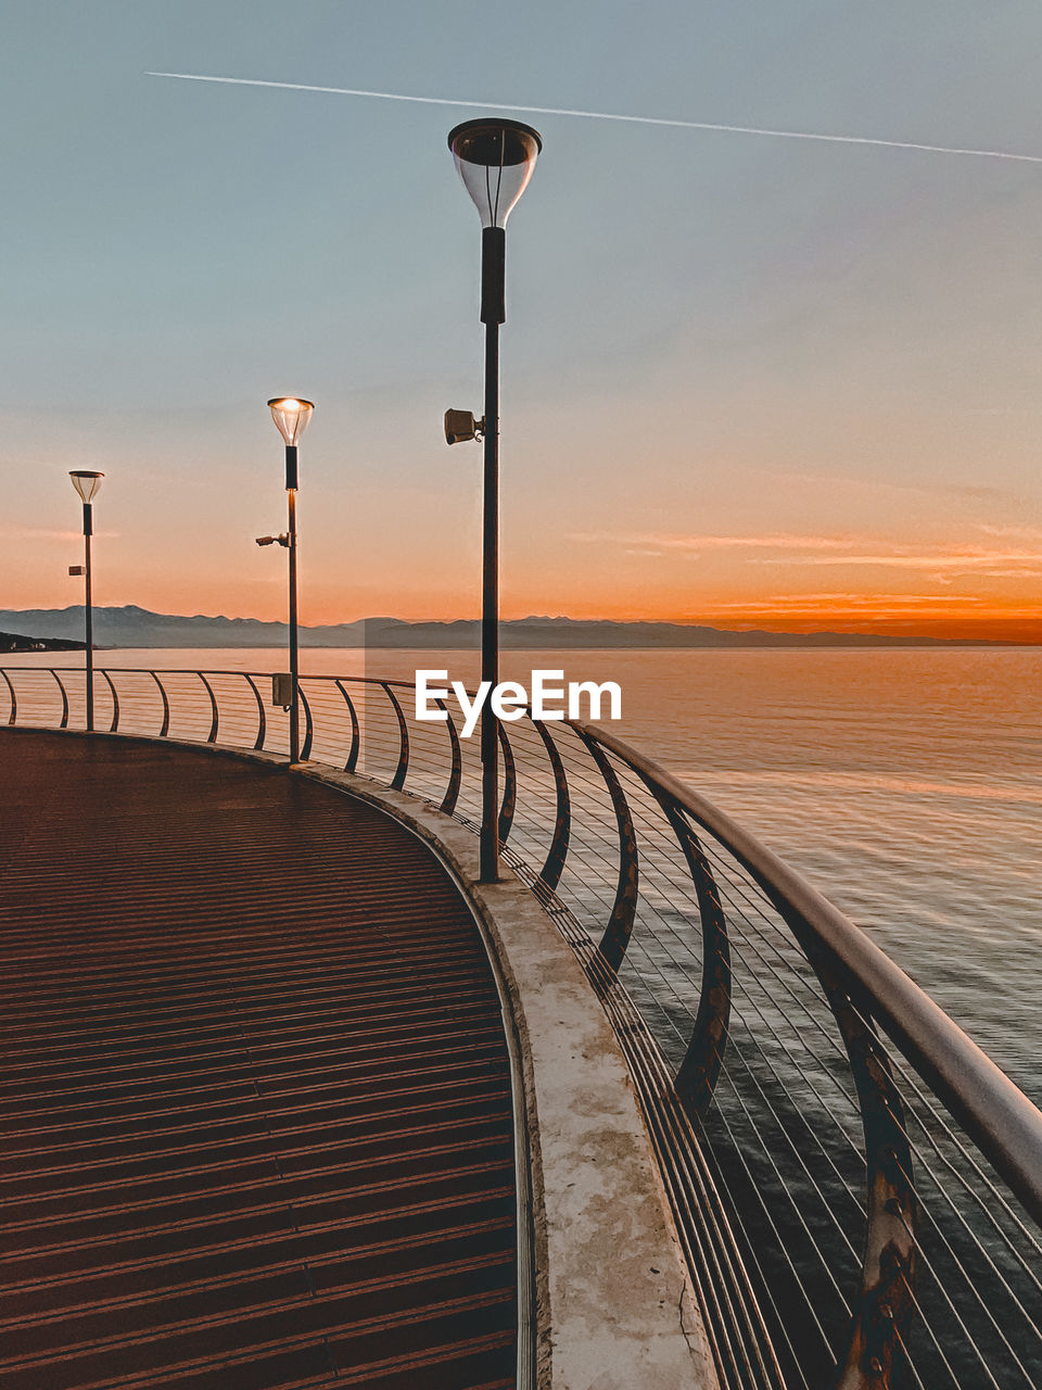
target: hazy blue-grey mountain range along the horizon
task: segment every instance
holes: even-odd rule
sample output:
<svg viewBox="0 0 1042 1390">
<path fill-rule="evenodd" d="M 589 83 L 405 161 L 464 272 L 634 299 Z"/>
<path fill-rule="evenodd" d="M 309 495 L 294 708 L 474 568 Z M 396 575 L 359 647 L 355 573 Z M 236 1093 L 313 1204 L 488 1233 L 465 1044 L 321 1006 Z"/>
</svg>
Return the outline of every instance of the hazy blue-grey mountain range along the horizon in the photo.
<svg viewBox="0 0 1042 1390">
<path fill-rule="evenodd" d="M 83 609 L 0 609 L 0 628 L 29 638 L 83 639 Z M 677 648 L 677 646 L 1011 646 L 1011 642 L 957 641 L 939 637 L 875 637 L 866 632 L 734 632 L 686 623 L 615 623 L 610 619 L 522 617 L 503 623 L 504 648 Z M 285 623 L 254 617 L 186 617 L 125 607 L 94 609 L 97 646 L 283 646 Z M 301 627 L 301 646 L 428 646 L 477 649 L 481 623 L 406 623 L 367 617 L 356 623 Z"/>
</svg>

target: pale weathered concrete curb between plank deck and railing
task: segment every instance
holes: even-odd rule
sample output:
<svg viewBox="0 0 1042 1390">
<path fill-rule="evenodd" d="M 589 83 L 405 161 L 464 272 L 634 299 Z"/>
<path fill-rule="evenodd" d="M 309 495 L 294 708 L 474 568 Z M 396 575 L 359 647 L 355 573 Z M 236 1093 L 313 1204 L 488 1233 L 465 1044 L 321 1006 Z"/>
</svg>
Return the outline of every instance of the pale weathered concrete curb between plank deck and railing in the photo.
<svg viewBox="0 0 1042 1390">
<path fill-rule="evenodd" d="M 251 749 L 64 733 L 285 767 Z M 418 835 L 458 884 L 485 937 L 524 1090 L 539 1390 L 717 1390 L 625 1059 L 550 916 L 506 867 L 500 883 L 479 884 L 477 837 L 425 802 L 315 763 L 290 774 L 356 796 Z"/>
</svg>

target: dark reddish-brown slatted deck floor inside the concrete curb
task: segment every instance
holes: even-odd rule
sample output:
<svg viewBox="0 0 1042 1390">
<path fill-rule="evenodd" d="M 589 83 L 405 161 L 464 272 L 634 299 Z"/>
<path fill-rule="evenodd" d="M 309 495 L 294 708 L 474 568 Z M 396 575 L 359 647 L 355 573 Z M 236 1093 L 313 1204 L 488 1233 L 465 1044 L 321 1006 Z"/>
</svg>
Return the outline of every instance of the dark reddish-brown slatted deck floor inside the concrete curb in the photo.
<svg viewBox="0 0 1042 1390">
<path fill-rule="evenodd" d="M 510 1074 L 397 824 L 204 752 L 0 744 L 0 1383 L 514 1384 Z"/>
</svg>

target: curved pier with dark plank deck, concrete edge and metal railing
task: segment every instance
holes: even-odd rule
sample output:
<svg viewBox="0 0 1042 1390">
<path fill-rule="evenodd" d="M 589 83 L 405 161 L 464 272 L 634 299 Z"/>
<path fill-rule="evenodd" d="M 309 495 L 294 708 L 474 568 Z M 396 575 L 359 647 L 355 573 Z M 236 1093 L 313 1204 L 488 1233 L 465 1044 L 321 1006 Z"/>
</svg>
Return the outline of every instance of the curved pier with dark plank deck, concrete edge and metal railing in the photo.
<svg viewBox="0 0 1042 1390">
<path fill-rule="evenodd" d="M 1038 1384 L 1042 1115 L 646 753 L 502 728 L 485 885 L 399 682 L 0 681 L 6 1384 Z"/>
</svg>

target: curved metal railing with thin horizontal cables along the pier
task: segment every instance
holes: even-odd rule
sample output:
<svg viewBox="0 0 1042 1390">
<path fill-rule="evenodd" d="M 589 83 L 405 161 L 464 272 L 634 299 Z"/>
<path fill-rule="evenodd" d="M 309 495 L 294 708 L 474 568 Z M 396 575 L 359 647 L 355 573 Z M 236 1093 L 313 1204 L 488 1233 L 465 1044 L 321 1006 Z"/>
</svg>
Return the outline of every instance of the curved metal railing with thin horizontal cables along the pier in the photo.
<svg viewBox="0 0 1042 1390">
<path fill-rule="evenodd" d="M 270 676 L 99 674 L 97 730 L 286 746 Z M 0 676 L 8 723 L 82 727 L 81 671 Z M 388 680 L 300 692 L 304 758 L 477 827 L 478 739 L 449 710 L 420 723 Z M 628 744 L 524 717 L 500 752 L 504 858 L 627 1052 L 721 1384 L 1042 1384 L 1039 1111 L 836 908 Z"/>
</svg>

